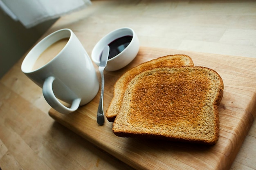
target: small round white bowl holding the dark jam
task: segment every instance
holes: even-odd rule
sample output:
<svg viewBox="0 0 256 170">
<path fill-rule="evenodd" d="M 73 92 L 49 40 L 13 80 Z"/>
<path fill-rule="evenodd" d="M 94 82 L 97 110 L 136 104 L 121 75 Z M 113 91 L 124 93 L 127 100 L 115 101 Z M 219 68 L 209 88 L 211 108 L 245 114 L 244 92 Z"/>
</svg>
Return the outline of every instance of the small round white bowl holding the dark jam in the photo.
<svg viewBox="0 0 256 170">
<path fill-rule="evenodd" d="M 130 35 L 132 40 L 130 44 L 121 53 L 108 59 L 106 71 L 116 71 L 128 65 L 139 51 L 139 38 L 130 28 L 120 28 L 105 35 L 92 49 L 92 61 L 99 66 L 101 53 L 104 47 L 118 38 Z M 111 49 L 110 49 L 111 50 Z"/>
</svg>

